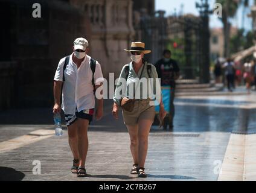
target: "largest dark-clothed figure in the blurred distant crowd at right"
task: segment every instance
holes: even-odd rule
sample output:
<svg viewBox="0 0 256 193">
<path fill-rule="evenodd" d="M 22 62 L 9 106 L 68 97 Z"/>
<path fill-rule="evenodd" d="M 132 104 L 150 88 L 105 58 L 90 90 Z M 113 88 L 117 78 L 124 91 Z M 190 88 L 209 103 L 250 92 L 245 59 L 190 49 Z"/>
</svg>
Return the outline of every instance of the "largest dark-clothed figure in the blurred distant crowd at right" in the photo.
<svg viewBox="0 0 256 193">
<path fill-rule="evenodd" d="M 232 89 L 235 89 L 234 78 L 235 78 L 235 67 L 234 62 L 231 59 L 227 59 L 226 63 L 223 64 L 225 69 L 225 76 L 227 81 L 228 90 L 232 92 Z"/>
</svg>

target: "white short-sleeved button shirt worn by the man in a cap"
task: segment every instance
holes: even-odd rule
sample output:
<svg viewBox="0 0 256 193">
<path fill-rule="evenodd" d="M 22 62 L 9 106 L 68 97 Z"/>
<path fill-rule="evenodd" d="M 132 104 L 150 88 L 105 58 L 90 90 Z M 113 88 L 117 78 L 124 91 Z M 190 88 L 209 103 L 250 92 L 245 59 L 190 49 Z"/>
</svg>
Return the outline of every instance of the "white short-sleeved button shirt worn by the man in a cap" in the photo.
<svg viewBox="0 0 256 193">
<path fill-rule="evenodd" d="M 74 53 L 73 53 L 74 54 Z M 91 57 L 86 55 L 81 66 L 77 69 L 77 65 L 69 57 L 68 65 L 65 69 L 65 83 L 62 92 L 62 110 L 65 114 L 74 115 L 75 109 L 78 112 L 86 109 L 94 109 L 95 96 L 94 86 L 92 84 L 92 70 L 90 66 Z M 54 76 L 55 81 L 63 81 L 63 66 L 65 58 L 61 59 Z M 104 81 L 100 63 L 96 62 L 94 72 L 95 85 Z"/>
</svg>

